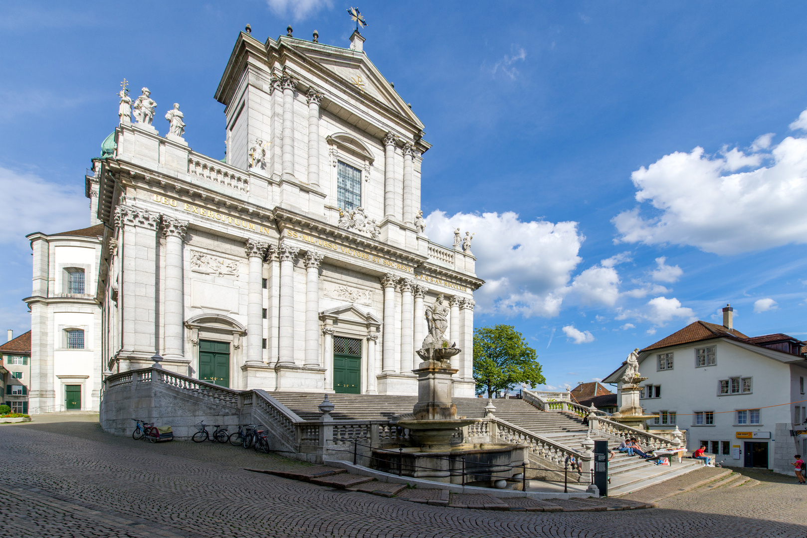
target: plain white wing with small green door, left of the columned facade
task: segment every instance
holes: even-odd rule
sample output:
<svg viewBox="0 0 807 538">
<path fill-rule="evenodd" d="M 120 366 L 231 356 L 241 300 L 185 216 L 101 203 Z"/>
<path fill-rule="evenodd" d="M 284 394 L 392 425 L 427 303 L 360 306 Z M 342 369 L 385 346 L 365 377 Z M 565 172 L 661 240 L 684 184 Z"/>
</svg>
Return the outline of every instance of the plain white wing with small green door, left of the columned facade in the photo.
<svg viewBox="0 0 807 538">
<path fill-rule="evenodd" d="M 33 290 L 23 299 L 31 309 L 31 413 L 98 411 L 102 326 L 96 297 L 103 229 L 96 224 L 27 236 L 33 250 Z"/>
</svg>

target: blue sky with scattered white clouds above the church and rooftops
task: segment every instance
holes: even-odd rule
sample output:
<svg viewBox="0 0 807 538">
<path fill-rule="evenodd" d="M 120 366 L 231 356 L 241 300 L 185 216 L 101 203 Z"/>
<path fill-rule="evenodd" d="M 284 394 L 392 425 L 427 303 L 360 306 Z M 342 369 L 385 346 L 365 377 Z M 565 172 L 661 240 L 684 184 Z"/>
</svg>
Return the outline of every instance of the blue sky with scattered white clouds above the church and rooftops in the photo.
<svg viewBox="0 0 807 538">
<path fill-rule="evenodd" d="M 346 47 L 331 0 L 3 2 L 0 319 L 30 328 L 31 231 L 86 226 L 83 173 L 126 77 L 224 155 L 238 31 Z M 476 231 L 477 326 L 513 324 L 547 383 L 610 373 L 726 302 L 807 338 L 807 5 L 363 2 L 370 60 L 426 125 L 433 240 Z M 162 109 L 160 109 L 162 110 Z M 161 127 L 158 125 L 158 127 Z M 164 131 L 164 130 L 163 130 Z M 700 148 L 700 149 L 697 149 Z"/>
</svg>

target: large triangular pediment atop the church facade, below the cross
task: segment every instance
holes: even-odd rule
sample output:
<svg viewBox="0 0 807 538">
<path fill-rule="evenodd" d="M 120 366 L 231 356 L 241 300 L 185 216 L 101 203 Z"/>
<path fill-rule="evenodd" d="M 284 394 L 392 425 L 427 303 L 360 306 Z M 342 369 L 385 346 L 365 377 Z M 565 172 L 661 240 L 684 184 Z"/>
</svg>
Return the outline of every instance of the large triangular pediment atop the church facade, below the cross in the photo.
<svg viewBox="0 0 807 538">
<path fill-rule="evenodd" d="M 423 123 L 420 122 L 420 119 L 417 118 L 407 103 L 403 101 L 403 98 L 399 96 L 389 81 L 383 77 L 364 53 L 356 52 L 349 48 L 312 44 L 303 40 L 286 40 L 285 38 L 281 38 L 281 40 L 284 44 L 295 48 L 298 52 L 303 53 L 325 69 L 328 69 L 337 78 L 345 82 L 347 87 L 358 90 L 359 94 L 368 95 L 376 101 L 382 102 L 419 125 L 420 128 L 423 128 Z"/>
</svg>

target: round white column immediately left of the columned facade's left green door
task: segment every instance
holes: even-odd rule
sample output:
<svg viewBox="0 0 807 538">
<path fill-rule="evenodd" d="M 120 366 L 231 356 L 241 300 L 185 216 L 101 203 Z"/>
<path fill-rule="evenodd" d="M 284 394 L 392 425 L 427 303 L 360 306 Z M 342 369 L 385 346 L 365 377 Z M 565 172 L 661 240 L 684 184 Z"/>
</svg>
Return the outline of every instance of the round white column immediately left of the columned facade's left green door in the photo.
<svg viewBox="0 0 807 538">
<path fill-rule="evenodd" d="M 163 311 L 165 319 L 165 359 L 184 360 L 185 302 L 182 277 L 182 240 L 188 223 L 162 217 L 165 236 L 165 290 Z"/>
</svg>

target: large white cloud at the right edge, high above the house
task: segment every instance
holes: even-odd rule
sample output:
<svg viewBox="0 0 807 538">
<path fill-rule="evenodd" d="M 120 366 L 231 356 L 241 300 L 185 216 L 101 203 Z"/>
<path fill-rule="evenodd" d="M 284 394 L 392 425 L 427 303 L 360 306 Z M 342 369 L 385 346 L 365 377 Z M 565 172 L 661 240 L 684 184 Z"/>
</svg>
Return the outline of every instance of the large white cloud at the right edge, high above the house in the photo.
<svg viewBox="0 0 807 538">
<path fill-rule="evenodd" d="M 807 130 L 807 111 L 791 128 Z M 759 137 L 748 154 L 734 148 L 710 156 L 698 147 L 633 172 L 636 200 L 654 209 L 614 217 L 615 243 L 692 245 L 717 254 L 807 243 L 807 138 L 788 136 L 770 153 L 759 152 L 771 137 Z M 752 169 L 734 172 L 743 166 Z"/>
</svg>

